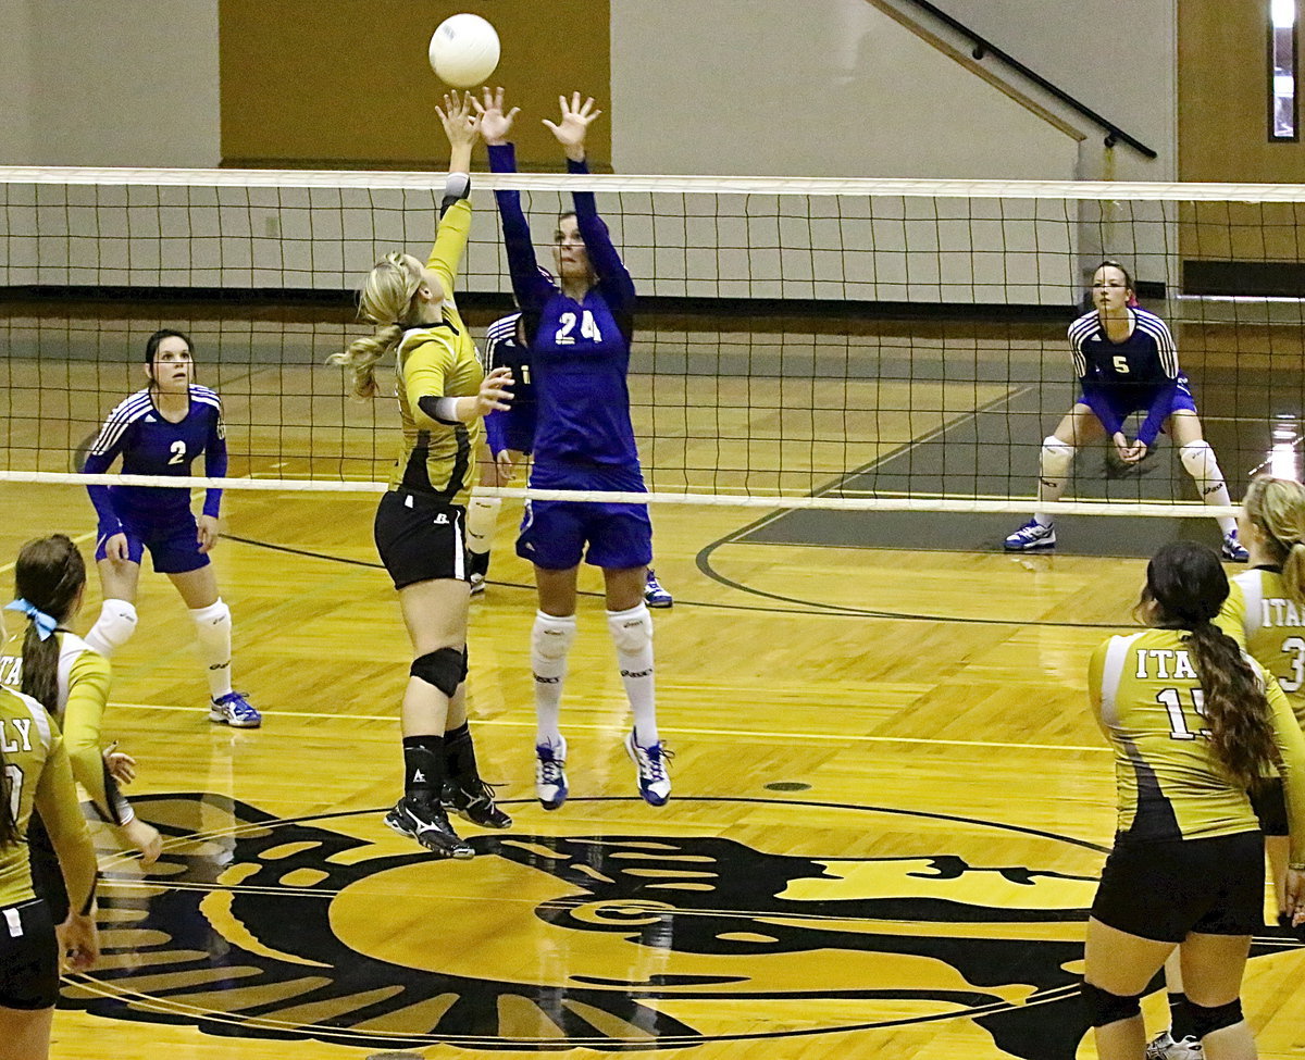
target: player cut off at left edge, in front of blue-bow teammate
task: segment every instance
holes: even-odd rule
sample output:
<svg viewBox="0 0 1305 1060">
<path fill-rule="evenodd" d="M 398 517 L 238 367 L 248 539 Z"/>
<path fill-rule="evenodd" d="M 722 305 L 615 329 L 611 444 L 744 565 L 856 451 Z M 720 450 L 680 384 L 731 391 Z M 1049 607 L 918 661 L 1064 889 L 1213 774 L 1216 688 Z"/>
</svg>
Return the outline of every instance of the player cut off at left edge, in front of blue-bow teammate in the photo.
<svg viewBox="0 0 1305 1060">
<path fill-rule="evenodd" d="M 0 625 L 3 633 L 3 625 Z M 31 886 L 27 822 L 40 813 L 72 899 L 57 932 Z M 59 727 L 29 696 L 0 687 L 0 1055 L 46 1060 L 60 956 L 77 970 L 99 956 L 95 847 Z"/>
</svg>

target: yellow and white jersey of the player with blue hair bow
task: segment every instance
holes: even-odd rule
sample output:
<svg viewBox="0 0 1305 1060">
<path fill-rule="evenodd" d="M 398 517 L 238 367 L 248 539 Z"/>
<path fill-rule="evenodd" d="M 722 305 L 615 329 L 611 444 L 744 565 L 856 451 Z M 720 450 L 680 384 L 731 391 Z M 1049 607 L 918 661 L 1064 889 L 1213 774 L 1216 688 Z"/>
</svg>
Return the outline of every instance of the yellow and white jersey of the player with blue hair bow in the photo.
<svg viewBox="0 0 1305 1060">
<path fill-rule="evenodd" d="M 136 812 L 110 777 L 102 751 L 100 726 L 112 676 L 108 659 L 76 633 L 60 629 L 54 636 L 59 638 L 59 700 L 54 715 L 64 734 L 73 778 L 86 788 L 100 820 L 125 825 Z M 10 640 L 0 654 L 0 684 L 14 692 L 22 689 L 20 637 Z"/>
</svg>

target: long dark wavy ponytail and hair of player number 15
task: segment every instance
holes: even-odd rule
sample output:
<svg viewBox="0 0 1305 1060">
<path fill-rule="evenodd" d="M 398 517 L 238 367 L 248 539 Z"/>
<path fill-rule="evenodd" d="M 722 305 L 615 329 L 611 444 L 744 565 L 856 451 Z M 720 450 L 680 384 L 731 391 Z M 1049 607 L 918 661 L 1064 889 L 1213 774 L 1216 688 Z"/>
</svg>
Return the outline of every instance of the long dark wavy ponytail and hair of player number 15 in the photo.
<svg viewBox="0 0 1305 1060">
<path fill-rule="evenodd" d="M 1203 544 L 1174 542 L 1147 565 L 1144 599 L 1155 602 L 1155 625 L 1189 631 L 1210 744 L 1228 779 L 1259 785 L 1276 756 L 1268 700 L 1237 642 L 1212 624 L 1228 598 L 1228 576 Z"/>
</svg>

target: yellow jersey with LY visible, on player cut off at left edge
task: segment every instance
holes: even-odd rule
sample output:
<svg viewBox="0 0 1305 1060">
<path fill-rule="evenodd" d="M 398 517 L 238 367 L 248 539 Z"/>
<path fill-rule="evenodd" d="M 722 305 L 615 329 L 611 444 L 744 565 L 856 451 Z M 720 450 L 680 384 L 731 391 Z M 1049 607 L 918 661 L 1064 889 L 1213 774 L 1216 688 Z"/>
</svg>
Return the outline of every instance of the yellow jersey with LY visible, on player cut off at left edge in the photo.
<svg viewBox="0 0 1305 1060">
<path fill-rule="evenodd" d="M 95 847 L 73 787 L 72 766 L 63 736 L 46 708 L 0 687 L 0 757 L 8 781 L 10 809 L 21 835 L 27 834 L 33 809 L 50 833 L 74 910 L 86 910 L 95 893 Z M 0 846 L 0 907 L 35 898 L 27 843 Z"/>
</svg>

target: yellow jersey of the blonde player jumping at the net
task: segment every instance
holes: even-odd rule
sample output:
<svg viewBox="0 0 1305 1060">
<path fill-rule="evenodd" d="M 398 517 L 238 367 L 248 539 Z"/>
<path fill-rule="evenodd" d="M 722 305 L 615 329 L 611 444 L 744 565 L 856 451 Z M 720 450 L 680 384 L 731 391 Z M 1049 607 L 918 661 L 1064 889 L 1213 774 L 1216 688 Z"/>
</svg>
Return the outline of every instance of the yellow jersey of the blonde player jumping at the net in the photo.
<svg viewBox="0 0 1305 1060">
<path fill-rule="evenodd" d="M 390 490 L 431 493 L 446 504 L 467 503 L 476 480 L 476 452 L 484 435 L 479 416 L 470 423 L 444 423 L 423 411 L 420 401 L 475 397 L 484 369 L 476 343 L 462 322 L 453 296 L 458 264 L 471 232 L 471 204 L 454 202 L 440 219 L 435 248 L 427 261 L 444 287 L 444 319 L 410 328 L 398 346 L 399 418 L 403 448 L 394 462 Z"/>
</svg>

